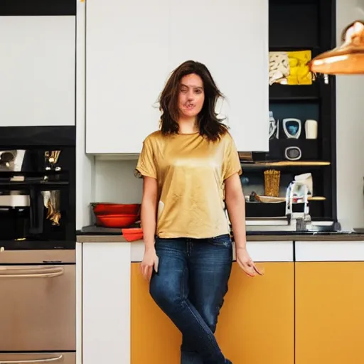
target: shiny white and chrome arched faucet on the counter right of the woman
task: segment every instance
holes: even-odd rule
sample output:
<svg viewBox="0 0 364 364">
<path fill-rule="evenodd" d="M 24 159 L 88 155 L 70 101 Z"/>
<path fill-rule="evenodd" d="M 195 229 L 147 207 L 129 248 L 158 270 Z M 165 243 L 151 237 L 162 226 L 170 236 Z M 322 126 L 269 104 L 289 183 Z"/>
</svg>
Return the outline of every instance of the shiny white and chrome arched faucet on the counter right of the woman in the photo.
<svg viewBox="0 0 364 364">
<path fill-rule="evenodd" d="M 294 193 L 298 188 L 303 188 L 303 197 L 294 196 Z M 301 201 L 294 201 L 295 198 Z M 304 203 L 303 211 L 294 212 L 294 203 Z M 309 188 L 307 187 L 306 183 L 301 181 L 292 181 L 289 183 L 286 192 L 286 216 L 290 224 L 294 222 L 296 223 L 296 230 L 299 231 L 306 230 L 306 225 L 311 223 L 311 216 L 309 215 Z"/>
</svg>

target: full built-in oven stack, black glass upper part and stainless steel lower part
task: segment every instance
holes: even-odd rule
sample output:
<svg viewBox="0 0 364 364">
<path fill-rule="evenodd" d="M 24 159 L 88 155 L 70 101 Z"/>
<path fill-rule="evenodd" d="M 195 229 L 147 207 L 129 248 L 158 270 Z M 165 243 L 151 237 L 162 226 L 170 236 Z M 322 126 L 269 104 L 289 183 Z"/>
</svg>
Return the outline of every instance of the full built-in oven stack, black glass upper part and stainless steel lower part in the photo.
<svg viewBox="0 0 364 364">
<path fill-rule="evenodd" d="M 75 364 L 75 127 L 0 128 L 0 363 Z"/>
</svg>

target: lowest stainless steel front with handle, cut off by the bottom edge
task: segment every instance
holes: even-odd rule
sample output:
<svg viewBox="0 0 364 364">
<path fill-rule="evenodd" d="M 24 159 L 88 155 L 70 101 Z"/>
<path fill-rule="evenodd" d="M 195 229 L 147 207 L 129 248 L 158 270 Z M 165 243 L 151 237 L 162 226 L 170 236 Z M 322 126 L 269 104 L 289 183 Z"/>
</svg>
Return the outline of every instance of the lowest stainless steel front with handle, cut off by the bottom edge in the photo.
<svg viewBox="0 0 364 364">
<path fill-rule="evenodd" d="M 76 364 L 75 353 L 0 354 L 1 364 Z"/>
</svg>

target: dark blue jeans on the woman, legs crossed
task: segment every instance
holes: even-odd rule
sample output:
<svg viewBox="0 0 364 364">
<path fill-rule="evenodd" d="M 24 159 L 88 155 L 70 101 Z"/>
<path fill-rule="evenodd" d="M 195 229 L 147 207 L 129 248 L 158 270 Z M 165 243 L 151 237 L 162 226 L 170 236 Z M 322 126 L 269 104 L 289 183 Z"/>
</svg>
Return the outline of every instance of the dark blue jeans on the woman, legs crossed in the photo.
<svg viewBox="0 0 364 364">
<path fill-rule="evenodd" d="M 232 267 L 230 236 L 156 237 L 156 254 L 149 291 L 182 333 L 181 364 L 231 364 L 214 336 Z"/>
</svg>

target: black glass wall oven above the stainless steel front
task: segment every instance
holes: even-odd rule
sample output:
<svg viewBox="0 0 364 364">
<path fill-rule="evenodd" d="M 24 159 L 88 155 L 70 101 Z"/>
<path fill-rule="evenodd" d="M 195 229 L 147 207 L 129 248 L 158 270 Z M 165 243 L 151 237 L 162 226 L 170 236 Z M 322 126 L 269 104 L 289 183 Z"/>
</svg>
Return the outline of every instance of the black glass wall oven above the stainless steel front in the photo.
<svg viewBox="0 0 364 364">
<path fill-rule="evenodd" d="M 1 128 L 0 247 L 75 247 L 74 129 Z"/>
</svg>

